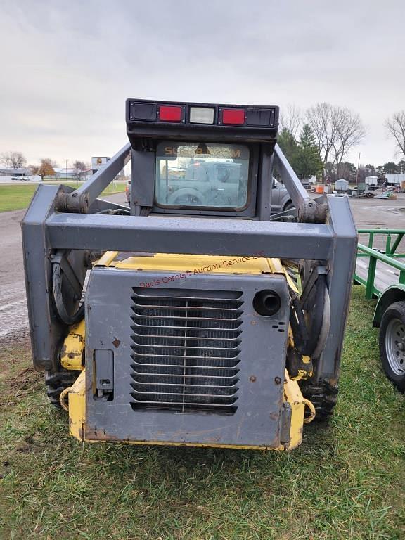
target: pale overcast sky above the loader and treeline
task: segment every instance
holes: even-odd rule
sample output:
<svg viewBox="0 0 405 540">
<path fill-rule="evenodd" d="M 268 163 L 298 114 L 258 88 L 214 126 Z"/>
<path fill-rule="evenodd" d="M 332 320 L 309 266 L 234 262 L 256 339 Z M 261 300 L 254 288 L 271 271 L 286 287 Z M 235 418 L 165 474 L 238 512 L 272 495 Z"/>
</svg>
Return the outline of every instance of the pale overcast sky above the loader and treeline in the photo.
<svg viewBox="0 0 405 540">
<path fill-rule="evenodd" d="M 30 163 L 113 155 L 129 97 L 346 105 L 367 129 L 349 158 L 397 160 L 404 0 L 0 0 L 0 60 L 0 153 Z"/>
</svg>

